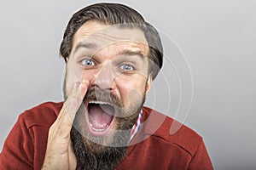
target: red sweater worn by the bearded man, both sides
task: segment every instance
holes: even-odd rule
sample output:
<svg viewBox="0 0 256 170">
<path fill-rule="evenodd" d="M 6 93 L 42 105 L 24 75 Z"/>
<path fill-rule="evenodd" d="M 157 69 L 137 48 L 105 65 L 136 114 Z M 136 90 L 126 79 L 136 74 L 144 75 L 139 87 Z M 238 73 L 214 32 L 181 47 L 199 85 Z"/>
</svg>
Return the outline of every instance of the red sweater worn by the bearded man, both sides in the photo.
<svg viewBox="0 0 256 170">
<path fill-rule="evenodd" d="M 41 169 L 49 127 L 61 107 L 62 103 L 48 102 L 19 116 L 3 145 L 0 169 Z M 143 125 L 116 169 L 213 169 L 202 138 L 185 126 L 170 135 L 172 122 L 144 107 Z"/>
</svg>

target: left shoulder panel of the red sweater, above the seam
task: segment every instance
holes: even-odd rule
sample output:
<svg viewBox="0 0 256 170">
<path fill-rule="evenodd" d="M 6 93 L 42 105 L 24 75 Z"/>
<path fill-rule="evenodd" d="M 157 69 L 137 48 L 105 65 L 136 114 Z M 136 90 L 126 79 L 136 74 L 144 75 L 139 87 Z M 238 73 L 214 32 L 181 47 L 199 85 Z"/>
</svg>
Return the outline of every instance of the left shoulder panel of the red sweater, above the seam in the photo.
<svg viewBox="0 0 256 170">
<path fill-rule="evenodd" d="M 33 126 L 50 127 L 50 125 L 55 122 L 62 105 L 63 102 L 45 102 L 37 105 L 20 114 L 19 122 L 25 123 L 27 128 Z"/>
</svg>

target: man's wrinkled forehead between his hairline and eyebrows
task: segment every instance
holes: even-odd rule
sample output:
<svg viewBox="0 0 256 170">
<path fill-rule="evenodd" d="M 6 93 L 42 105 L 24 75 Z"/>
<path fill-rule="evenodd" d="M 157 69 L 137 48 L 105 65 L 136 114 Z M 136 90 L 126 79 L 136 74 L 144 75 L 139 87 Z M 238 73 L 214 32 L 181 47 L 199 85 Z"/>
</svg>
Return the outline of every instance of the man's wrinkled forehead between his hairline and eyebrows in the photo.
<svg viewBox="0 0 256 170">
<path fill-rule="evenodd" d="M 120 50 L 140 51 L 148 55 L 148 42 L 143 31 L 137 28 L 120 28 L 108 26 L 96 21 L 87 21 L 75 33 L 72 53 L 81 47 L 102 50 L 108 48 L 108 53 Z"/>
</svg>

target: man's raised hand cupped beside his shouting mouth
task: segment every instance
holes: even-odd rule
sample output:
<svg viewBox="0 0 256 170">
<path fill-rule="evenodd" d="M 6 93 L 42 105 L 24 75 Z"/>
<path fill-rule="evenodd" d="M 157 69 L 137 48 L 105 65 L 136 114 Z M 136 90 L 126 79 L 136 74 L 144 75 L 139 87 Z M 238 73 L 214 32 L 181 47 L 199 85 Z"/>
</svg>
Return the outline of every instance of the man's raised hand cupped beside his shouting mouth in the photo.
<svg viewBox="0 0 256 170">
<path fill-rule="evenodd" d="M 79 106 L 87 92 L 88 81 L 77 82 L 62 106 L 55 122 L 49 127 L 48 142 L 42 169 L 75 169 L 77 160 L 73 153 L 70 131 Z"/>
</svg>

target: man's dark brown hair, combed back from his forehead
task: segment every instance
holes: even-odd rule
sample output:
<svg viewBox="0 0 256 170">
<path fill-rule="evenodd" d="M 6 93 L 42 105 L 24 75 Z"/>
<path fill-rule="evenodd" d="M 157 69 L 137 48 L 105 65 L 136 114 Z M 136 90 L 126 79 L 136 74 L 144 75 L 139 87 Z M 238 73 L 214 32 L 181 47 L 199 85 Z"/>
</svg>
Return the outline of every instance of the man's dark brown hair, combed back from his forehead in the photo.
<svg viewBox="0 0 256 170">
<path fill-rule="evenodd" d="M 66 62 L 72 51 L 73 37 L 76 31 L 89 20 L 96 20 L 109 26 L 126 25 L 129 28 L 142 30 L 148 42 L 148 58 L 154 65 L 149 64 L 148 70 L 152 73 L 153 79 L 157 76 L 163 65 L 163 48 L 158 31 L 146 22 L 136 10 L 119 3 L 96 3 L 73 14 L 67 24 L 60 47 L 60 54 Z"/>
</svg>

